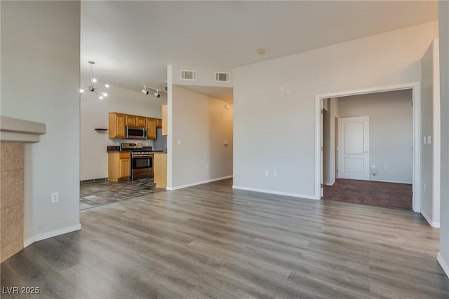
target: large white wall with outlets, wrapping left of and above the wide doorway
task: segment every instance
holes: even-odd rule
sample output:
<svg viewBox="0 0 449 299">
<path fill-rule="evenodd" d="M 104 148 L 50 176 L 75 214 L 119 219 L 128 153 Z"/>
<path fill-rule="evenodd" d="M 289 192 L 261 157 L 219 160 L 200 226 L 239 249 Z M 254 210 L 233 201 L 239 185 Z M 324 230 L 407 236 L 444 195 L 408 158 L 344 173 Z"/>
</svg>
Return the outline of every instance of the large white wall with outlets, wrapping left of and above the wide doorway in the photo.
<svg viewBox="0 0 449 299">
<path fill-rule="evenodd" d="M 234 69 L 234 185 L 315 198 L 315 96 L 420 81 L 437 35 L 430 22 Z"/>
</svg>

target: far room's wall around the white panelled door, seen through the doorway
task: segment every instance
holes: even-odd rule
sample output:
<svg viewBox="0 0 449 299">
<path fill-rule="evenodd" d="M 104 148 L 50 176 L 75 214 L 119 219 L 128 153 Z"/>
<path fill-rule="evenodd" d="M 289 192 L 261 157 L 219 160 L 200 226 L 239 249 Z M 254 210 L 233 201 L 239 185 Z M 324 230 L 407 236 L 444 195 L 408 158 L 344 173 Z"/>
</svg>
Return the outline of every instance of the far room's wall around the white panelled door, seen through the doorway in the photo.
<svg viewBox="0 0 449 299">
<path fill-rule="evenodd" d="M 340 118 L 370 117 L 371 181 L 412 183 L 412 90 L 377 92 L 338 99 Z M 387 169 L 384 169 L 384 166 Z"/>
</svg>

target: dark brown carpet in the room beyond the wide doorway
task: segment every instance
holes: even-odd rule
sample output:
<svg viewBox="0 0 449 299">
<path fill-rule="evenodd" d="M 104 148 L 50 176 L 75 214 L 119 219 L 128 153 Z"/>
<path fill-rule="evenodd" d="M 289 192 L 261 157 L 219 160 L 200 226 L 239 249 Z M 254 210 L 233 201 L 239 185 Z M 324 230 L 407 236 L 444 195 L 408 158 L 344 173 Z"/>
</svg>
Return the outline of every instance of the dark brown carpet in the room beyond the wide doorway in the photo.
<svg viewBox="0 0 449 299">
<path fill-rule="evenodd" d="M 333 186 L 324 186 L 323 200 L 412 209 L 412 185 L 337 179 Z"/>
</svg>

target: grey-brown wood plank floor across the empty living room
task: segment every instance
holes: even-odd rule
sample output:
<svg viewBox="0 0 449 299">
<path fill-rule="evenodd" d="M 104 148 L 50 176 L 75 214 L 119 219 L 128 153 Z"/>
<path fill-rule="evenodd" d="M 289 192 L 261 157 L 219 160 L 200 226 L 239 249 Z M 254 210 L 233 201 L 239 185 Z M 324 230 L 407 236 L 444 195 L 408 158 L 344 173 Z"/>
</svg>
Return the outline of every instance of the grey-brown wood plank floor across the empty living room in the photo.
<svg viewBox="0 0 449 299">
<path fill-rule="evenodd" d="M 81 211 L 81 231 L 2 263 L 1 286 L 39 286 L 35 298 L 449 298 L 438 229 L 420 214 L 231 186 Z"/>
</svg>

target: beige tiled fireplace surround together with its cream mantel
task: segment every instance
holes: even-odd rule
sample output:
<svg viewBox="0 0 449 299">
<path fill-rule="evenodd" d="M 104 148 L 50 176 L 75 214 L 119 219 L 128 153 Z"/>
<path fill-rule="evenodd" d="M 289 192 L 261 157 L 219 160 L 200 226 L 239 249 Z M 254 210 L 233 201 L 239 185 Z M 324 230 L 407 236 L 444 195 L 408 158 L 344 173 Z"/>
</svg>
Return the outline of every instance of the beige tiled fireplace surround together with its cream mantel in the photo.
<svg viewBox="0 0 449 299">
<path fill-rule="evenodd" d="M 24 148 L 46 126 L 0 116 L 0 263 L 23 249 Z"/>
</svg>

